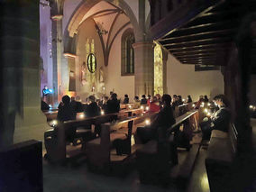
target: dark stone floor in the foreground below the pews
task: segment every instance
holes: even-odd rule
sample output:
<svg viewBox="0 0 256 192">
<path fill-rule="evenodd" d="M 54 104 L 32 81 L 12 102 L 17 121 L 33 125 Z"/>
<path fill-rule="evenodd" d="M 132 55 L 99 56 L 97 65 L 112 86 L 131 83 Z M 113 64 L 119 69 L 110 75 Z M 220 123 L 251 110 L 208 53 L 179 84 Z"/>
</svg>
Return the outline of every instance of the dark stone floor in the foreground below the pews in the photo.
<svg viewBox="0 0 256 192">
<path fill-rule="evenodd" d="M 189 192 L 209 191 L 206 169 L 206 150 L 200 149 L 195 163 L 195 169 L 187 184 Z M 140 183 L 138 172 L 133 169 L 126 176 L 106 176 L 87 170 L 86 163 L 77 166 L 53 166 L 43 161 L 43 185 L 45 192 L 155 192 L 155 191 L 184 191 L 178 189 L 172 182 L 169 187 L 143 185 Z M 184 183 L 185 185 L 185 183 Z"/>
</svg>

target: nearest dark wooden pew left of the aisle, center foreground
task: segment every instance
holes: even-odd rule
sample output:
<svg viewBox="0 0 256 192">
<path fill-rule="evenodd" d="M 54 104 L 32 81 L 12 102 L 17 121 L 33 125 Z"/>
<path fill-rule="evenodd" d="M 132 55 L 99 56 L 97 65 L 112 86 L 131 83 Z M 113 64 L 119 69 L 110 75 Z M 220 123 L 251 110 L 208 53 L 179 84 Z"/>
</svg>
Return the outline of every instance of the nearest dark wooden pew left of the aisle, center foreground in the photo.
<svg viewBox="0 0 256 192">
<path fill-rule="evenodd" d="M 183 126 L 183 132 L 187 134 L 187 146 L 190 147 L 190 133 L 195 129 L 195 118 L 197 118 L 197 110 L 192 110 L 186 114 L 182 114 L 176 118 L 176 123 L 167 130 L 167 140 L 164 142 L 150 141 L 142 145 L 136 151 L 137 168 L 140 173 L 140 180 L 142 183 L 162 183 L 166 184 L 169 179 L 169 160 L 174 164 L 178 163 L 178 152 L 175 137 L 178 136 L 179 126 Z M 191 122 L 191 123 L 190 123 Z M 197 123 L 197 121 L 196 121 Z M 161 129 L 160 129 L 161 130 Z M 171 134 L 176 133 L 176 134 Z M 175 162 L 176 161 L 176 162 Z M 186 165 L 187 166 L 187 165 Z M 190 168 L 193 165 L 188 165 Z"/>
</svg>

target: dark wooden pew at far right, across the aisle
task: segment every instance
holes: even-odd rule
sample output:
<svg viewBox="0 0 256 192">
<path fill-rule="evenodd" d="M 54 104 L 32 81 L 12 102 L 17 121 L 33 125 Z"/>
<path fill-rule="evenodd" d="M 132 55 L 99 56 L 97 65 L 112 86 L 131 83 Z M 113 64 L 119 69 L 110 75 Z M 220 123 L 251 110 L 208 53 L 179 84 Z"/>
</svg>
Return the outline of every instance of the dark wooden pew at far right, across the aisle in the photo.
<svg viewBox="0 0 256 192">
<path fill-rule="evenodd" d="M 237 131 L 233 123 L 229 132 L 213 130 L 206 156 L 206 172 L 211 191 L 226 191 L 232 185 L 231 169 L 236 153 Z"/>
</svg>

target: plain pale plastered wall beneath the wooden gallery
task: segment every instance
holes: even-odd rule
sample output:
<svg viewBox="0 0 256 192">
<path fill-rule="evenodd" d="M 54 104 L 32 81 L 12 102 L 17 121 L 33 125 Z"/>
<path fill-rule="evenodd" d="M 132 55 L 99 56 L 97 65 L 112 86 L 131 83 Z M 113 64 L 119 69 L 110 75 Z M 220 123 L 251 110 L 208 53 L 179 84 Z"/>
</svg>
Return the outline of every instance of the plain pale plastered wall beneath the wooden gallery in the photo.
<svg viewBox="0 0 256 192">
<path fill-rule="evenodd" d="M 224 76 L 220 70 L 195 71 L 194 65 L 181 64 L 169 54 L 167 61 L 168 93 L 187 98 L 190 95 L 197 101 L 200 95 L 213 98 L 224 94 Z"/>
</svg>

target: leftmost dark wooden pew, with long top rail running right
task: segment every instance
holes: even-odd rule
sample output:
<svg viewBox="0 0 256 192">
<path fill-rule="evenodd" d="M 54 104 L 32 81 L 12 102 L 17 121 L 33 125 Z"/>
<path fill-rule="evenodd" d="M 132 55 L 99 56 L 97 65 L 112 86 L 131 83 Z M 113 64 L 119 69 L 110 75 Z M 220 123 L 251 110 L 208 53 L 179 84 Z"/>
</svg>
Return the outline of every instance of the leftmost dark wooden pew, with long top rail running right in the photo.
<svg viewBox="0 0 256 192">
<path fill-rule="evenodd" d="M 81 154 L 81 147 L 85 148 L 85 142 L 94 139 L 96 133 L 100 130 L 100 124 L 123 119 L 129 114 L 142 114 L 142 109 L 125 110 L 116 114 L 105 114 L 96 117 L 79 118 L 64 123 L 58 123 L 54 129 L 50 129 L 44 133 L 45 148 L 47 155 L 45 156 L 51 161 L 63 161 L 66 158 Z M 83 113 L 82 113 L 83 114 Z M 95 130 L 91 130 L 94 125 Z M 77 141 L 82 141 L 83 146 L 78 145 Z M 75 146 L 70 145 L 72 143 Z"/>
</svg>

